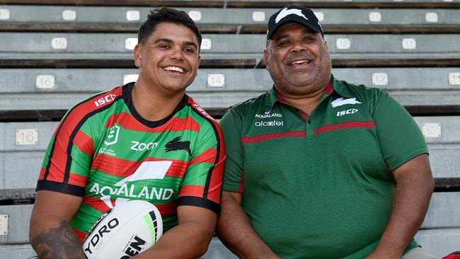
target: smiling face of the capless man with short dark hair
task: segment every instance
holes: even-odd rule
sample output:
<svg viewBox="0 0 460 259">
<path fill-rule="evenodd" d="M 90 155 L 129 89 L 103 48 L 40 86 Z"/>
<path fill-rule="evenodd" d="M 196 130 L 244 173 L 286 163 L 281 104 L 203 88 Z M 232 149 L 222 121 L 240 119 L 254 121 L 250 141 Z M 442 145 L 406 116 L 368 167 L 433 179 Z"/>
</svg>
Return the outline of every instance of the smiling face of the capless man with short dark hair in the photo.
<svg viewBox="0 0 460 259">
<path fill-rule="evenodd" d="M 139 79 L 163 95 L 183 93 L 192 84 L 200 65 L 198 40 L 190 28 L 176 23 L 159 23 L 149 38 L 134 47 Z"/>
</svg>

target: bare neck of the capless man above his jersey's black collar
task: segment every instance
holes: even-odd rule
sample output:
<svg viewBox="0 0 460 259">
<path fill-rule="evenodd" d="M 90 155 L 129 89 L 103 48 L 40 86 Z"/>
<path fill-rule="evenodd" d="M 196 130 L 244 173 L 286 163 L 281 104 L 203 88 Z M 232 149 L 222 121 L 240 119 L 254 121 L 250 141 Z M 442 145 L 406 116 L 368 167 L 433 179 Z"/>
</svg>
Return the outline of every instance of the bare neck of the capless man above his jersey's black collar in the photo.
<svg viewBox="0 0 460 259">
<path fill-rule="evenodd" d="M 132 88 L 132 103 L 137 113 L 145 120 L 162 120 L 173 113 L 184 94 L 185 92 L 165 95 L 136 82 Z"/>
</svg>

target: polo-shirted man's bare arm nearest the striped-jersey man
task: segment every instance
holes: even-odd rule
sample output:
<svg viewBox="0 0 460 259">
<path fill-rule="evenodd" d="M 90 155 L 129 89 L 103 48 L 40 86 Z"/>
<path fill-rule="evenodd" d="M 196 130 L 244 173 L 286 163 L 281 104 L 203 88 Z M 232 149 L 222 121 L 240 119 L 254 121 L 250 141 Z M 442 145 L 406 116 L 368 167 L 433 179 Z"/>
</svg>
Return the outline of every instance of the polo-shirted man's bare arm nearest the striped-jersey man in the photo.
<svg viewBox="0 0 460 259">
<path fill-rule="evenodd" d="M 241 208 L 241 197 L 238 192 L 222 192 L 217 236 L 238 258 L 280 258 L 255 233 L 248 216 Z"/>
</svg>

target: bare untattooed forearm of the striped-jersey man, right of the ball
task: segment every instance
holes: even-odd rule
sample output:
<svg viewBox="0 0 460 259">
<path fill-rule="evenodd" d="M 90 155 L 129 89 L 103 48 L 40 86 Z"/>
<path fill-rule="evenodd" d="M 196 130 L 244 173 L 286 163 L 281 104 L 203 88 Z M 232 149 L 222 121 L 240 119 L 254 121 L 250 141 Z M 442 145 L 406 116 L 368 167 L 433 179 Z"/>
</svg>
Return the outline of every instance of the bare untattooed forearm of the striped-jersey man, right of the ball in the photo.
<svg viewBox="0 0 460 259">
<path fill-rule="evenodd" d="M 199 258 L 204 255 L 214 234 L 217 215 L 210 209 L 179 206 L 179 224 L 168 230 L 158 243 L 132 259 Z"/>
</svg>

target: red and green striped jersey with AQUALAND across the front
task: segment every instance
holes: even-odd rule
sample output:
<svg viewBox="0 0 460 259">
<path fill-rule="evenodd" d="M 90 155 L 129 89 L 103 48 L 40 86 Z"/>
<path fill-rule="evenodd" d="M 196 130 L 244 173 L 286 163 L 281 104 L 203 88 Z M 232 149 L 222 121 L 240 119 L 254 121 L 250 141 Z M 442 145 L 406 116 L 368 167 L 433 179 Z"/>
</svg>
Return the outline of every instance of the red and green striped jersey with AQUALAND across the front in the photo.
<svg viewBox="0 0 460 259">
<path fill-rule="evenodd" d="M 156 205 L 163 231 L 178 224 L 180 205 L 219 214 L 225 152 L 217 122 L 187 95 L 163 120 L 144 120 L 132 104 L 133 86 L 76 104 L 47 148 L 36 190 L 83 197 L 70 223 L 81 241 L 124 199 Z"/>
</svg>

